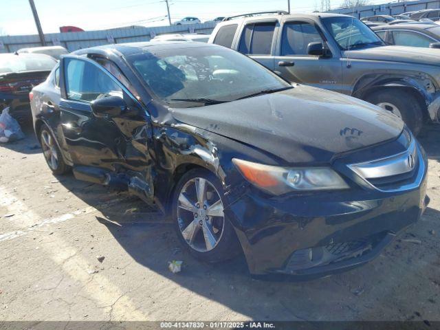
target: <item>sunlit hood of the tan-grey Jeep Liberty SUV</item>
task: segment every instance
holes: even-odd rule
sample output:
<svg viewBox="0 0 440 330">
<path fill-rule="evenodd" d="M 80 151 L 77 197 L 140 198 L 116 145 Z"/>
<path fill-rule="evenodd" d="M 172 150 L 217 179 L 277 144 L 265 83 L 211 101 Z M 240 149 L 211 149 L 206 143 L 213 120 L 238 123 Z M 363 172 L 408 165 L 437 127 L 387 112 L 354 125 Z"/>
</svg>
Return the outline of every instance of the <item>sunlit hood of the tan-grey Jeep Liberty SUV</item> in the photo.
<svg viewBox="0 0 440 330">
<path fill-rule="evenodd" d="M 384 46 L 346 50 L 344 57 L 359 60 L 439 65 L 439 50 L 422 47 Z"/>
</svg>

